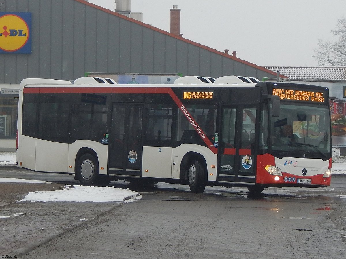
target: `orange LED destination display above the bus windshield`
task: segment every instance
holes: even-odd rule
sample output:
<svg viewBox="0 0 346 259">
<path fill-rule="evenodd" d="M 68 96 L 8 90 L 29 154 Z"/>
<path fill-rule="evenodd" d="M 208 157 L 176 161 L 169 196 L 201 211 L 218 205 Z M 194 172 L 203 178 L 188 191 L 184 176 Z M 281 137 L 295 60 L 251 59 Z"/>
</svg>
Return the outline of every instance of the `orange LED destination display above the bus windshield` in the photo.
<svg viewBox="0 0 346 259">
<path fill-rule="evenodd" d="M 303 91 L 303 90 L 291 90 L 291 89 L 280 89 L 274 88 L 273 95 L 280 96 L 282 100 L 292 100 L 292 101 L 306 101 L 314 103 L 325 102 L 325 92 L 317 91 Z"/>
</svg>

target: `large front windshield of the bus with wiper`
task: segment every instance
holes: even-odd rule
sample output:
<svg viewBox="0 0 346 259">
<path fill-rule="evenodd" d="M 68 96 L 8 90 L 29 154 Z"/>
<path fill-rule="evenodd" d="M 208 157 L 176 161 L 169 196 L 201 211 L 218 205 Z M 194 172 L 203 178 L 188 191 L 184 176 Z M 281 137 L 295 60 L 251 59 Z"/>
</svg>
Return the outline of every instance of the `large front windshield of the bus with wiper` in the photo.
<svg viewBox="0 0 346 259">
<path fill-rule="evenodd" d="M 280 117 L 272 117 L 269 127 L 273 155 L 330 158 L 328 107 L 281 103 Z"/>
</svg>

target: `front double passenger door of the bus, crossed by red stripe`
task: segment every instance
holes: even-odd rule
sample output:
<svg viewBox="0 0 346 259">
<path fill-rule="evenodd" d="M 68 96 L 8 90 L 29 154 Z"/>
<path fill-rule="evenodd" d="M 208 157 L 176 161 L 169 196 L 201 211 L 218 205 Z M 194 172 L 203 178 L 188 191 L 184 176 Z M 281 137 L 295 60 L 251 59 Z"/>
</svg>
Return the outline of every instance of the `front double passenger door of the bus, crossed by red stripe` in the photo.
<svg viewBox="0 0 346 259">
<path fill-rule="evenodd" d="M 223 107 L 219 142 L 218 181 L 221 183 L 255 183 L 256 108 L 246 105 Z"/>
</svg>

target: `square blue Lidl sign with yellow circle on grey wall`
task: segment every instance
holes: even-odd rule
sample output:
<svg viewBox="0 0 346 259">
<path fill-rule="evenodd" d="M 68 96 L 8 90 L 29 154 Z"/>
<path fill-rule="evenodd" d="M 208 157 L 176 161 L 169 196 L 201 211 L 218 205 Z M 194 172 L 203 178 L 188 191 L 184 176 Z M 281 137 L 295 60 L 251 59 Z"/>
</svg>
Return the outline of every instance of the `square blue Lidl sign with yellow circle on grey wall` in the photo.
<svg viewBox="0 0 346 259">
<path fill-rule="evenodd" d="M 30 12 L 0 12 L 0 53 L 31 53 Z"/>
</svg>

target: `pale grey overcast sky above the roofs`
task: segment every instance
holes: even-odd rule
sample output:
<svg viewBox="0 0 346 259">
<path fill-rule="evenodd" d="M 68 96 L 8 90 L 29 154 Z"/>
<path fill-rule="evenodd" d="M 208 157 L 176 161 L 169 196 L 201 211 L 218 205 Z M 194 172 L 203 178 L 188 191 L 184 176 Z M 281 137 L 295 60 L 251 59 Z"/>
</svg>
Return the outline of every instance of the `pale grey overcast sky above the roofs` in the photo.
<svg viewBox="0 0 346 259">
<path fill-rule="evenodd" d="M 114 10 L 115 0 L 89 0 Z M 316 66 L 318 39 L 333 39 L 346 0 L 132 0 L 143 22 L 170 31 L 170 9 L 181 9 L 183 37 L 259 66 Z"/>
</svg>

